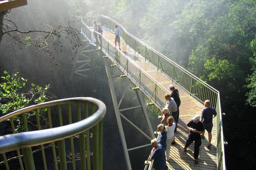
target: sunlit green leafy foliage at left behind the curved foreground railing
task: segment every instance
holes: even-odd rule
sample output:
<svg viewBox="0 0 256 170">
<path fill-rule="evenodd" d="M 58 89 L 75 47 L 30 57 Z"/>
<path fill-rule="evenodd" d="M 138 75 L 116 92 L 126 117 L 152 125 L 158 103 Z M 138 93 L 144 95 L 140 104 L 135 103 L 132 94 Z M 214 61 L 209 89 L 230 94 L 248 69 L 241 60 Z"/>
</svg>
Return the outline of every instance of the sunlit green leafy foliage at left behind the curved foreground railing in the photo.
<svg viewBox="0 0 256 170">
<path fill-rule="evenodd" d="M 45 102 L 51 98 L 49 96 L 49 85 L 45 85 L 45 88 L 31 83 L 31 89 L 24 93 L 23 88 L 26 88 L 27 79 L 18 76 L 18 72 L 10 75 L 7 71 L 4 71 L 4 76 L 1 77 L 0 81 L 0 111 L 10 113 L 17 111 L 29 105 L 39 104 Z M 39 109 L 40 114 L 46 109 Z M 27 118 L 35 115 L 35 112 L 26 113 Z M 15 116 L 13 118 L 17 122 L 17 131 L 24 129 L 23 119 L 21 116 Z"/>
</svg>

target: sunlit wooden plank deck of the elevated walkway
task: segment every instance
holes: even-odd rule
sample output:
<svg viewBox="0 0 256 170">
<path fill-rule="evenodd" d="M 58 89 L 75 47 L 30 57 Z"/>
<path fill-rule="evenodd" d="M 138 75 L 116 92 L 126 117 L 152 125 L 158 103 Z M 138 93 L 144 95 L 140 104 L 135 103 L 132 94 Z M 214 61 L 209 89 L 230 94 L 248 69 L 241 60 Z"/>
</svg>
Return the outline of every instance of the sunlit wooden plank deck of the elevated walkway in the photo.
<svg viewBox="0 0 256 170">
<path fill-rule="evenodd" d="M 115 35 L 113 35 L 109 29 L 104 29 L 103 36 L 105 36 L 111 43 L 114 44 Z M 118 43 L 117 43 L 118 46 Z M 179 84 L 172 82 L 164 73 L 159 72 L 150 63 L 145 61 L 138 53 L 134 53 L 129 46 L 126 46 L 125 42 L 121 38 L 121 50 L 130 59 L 134 61 L 141 69 L 153 77 L 159 84 L 161 84 L 166 89 L 169 84 L 174 84 L 175 88 L 179 90 L 181 105 L 180 105 L 180 116 L 177 132 L 175 133 L 176 145 L 171 146 L 170 160 L 168 163 L 169 169 L 186 169 L 186 170 L 205 170 L 205 169 L 217 169 L 217 141 L 216 141 L 216 120 L 213 120 L 213 130 L 212 130 L 212 141 L 210 149 L 207 148 L 208 144 L 208 134 L 205 133 L 205 139 L 202 139 L 202 144 L 199 152 L 199 163 L 194 163 L 193 150 L 194 143 L 192 143 L 188 148 L 187 152 L 183 152 L 182 149 L 186 143 L 186 138 L 189 130 L 186 128 L 186 124 L 192 119 L 196 114 L 201 114 L 204 109 L 204 105 L 198 101 L 196 98 L 189 95 L 189 93 L 184 90 Z M 168 93 L 168 90 L 166 90 Z M 154 127 L 153 127 L 154 128 Z M 150 151 L 148 151 L 150 152 Z"/>
</svg>

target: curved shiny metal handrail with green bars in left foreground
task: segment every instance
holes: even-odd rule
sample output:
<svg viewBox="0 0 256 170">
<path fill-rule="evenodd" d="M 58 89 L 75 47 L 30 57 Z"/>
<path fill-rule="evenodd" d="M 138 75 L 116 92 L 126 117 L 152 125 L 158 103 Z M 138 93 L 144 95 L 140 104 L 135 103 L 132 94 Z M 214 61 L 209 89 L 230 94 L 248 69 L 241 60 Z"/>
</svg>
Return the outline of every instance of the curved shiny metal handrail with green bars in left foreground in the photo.
<svg viewBox="0 0 256 170">
<path fill-rule="evenodd" d="M 70 105 L 72 103 L 76 103 L 77 107 L 79 108 L 77 111 L 78 112 L 78 122 L 76 122 L 76 123 L 72 123 L 72 121 L 71 121 L 71 106 Z M 83 119 L 83 120 L 81 120 L 80 103 L 84 103 L 84 105 L 87 105 L 87 106 L 85 106 L 85 108 L 87 107 L 87 111 L 85 111 L 85 112 L 87 112 L 86 113 L 87 116 L 85 115 L 85 119 Z M 92 104 L 93 110 L 95 110 L 96 107 L 98 108 L 97 111 L 96 110 L 95 110 L 95 112 L 92 111 L 91 116 L 88 116 L 88 103 Z M 76 97 L 76 98 L 67 98 L 67 99 L 49 101 L 49 102 L 45 102 L 45 103 L 41 103 L 41 104 L 37 104 L 37 105 L 32 105 L 32 106 L 22 108 L 18 111 L 9 113 L 8 115 L 1 117 L 0 122 L 10 119 L 10 122 L 12 124 L 13 133 L 15 133 L 14 126 L 13 126 L 13 117 L 18 116 L 18 115 L 24 116 L 25 113 L 27 113 L 27 112 L 37 111 L 38 109 L 42 109 L 42 108 L 47 108 L 47 111 L 50 115 L 50 109 L 49 109 L 50 106 L 58 106 L 58 111 L 59 111 L 59 116 L 60 116 L 61 111 L 59 110 L 59 108 L 60 108 L 60 105 L 63 105 L 63 104 L 67 104 L 68 109 L 70 109 L 68 111 L 68 113 L 69 113 L 68 116 L 69 116 L 69 123 L 71 123 L 71 124 L 62 126 L 62 120 L 61 120 L 60 127 L 52 128 L 51 127 L 52 126 L 51 119 L 50 119 L 49 120 L 50 121 L 50 129 L 40 130 L 40 123 L 39 123 L 39 124 L 37 124 L 38 130 L 36 130 L 36 131 L 28 131 L 28 129 L 26 128 L 26 132 L 0 136 L 0 153 L 2 153 L 5 157 L 6 152 L 17 150 L 18 157 L 20 160 L 20 165 L 21 165 L 21 168 L 23 169 L 23 166 L 21 163 L 21 155 L 20 155 L 20 151 L 19 151 L 19 149 L 22 149 L 22 152 L 24 152 L 23 158 L 24 158 L 26 169 L 35 169 L 35 165 L 34 165 L 33 161 L 31 162 L 29 160 L 29 159 L 33 160 L 31 147 L 41 145 L 41 149 L 43 151 L 44 150 L 43 144 L 51 143 L 53 146 L 53 149 L 55 149 L 54 142 L 58 141 L 59 155 L 60 155 L 60 159 L 62 159 L 62 160 L 60 160 L 60 167 L 61 167 L 61 169 L 67 169 L 64 139 L 71 137 L 70 139 L 71 139 L 71 148 L 72 148 L 72 146 L 74 145 L 72 136 L 78 135 L 78 134 L 79 135 L 82 134 L 82 136 L 83 136 L 85 131 L 86 131 L 87 136 L 89 136 L 88 129 L 91 129 L 93 127 L 92 128 L 93 133 L 95 133 L 95 135 L 94 135 L 95 136 L 94 150 L 95 150 L 95 148 L 97 150 L 96 151 L 97 153 L 95 153 L 95 155 L 98 155 L 101 157 L 102 156 L 102 147 L 99 146 L 99 144 L 96 144 L 96 142 L 97 141 L 99 142 L 99 140 L 102 141 L 102 137 L 98 136 L 98 135 L 102 134 L 102 119 L 106 114 L 106 106 L 102 101 L 97 100 L 95 98 Z M 79 114 L 80 114 L 80 116 L 79 116 Z M 49 117 L 49 115 L 48 115 L 48 117 Z M 38 115 L 36 115 L 36 116 L 38 116 Z M 62 117 L 62 116 L 60 116 L 60 117 Z M 62 119 L 60 117 L 59 117 L 59 119 Z M 38 117 L 37 117 L 37 119 L 38 119 Z M 37 121 L 39 121 L 39 119 Z M 99 125 L 99 124 L 101 124 L 101 125 Z M 99 131 L 99 128 L 101 131 Z M 85 145 L 85 139 L 83 139 L 81 137 L 80 140 L 81 140 L 80 145 L 82 143 L 84 143 L 84 145 Z M 87 142 L 89 142 L 89 138 L 86 140 L 87 140 Z M 87 143 L 86 145 L 88 147 L 87 152 L 88 151 L 90 152 L 89 143 Z M 102 142 L 101 142 L 101 145 L 102 145 Z M 101 150 L 99 150 L 98 147 L 101 147 Z M 73 146 L 73 148 L 74 148 L 74 146 Z M 74 151 L 72 151 L 72 152 L 73 152 L 72 156 L 74 157 Z M 81 153 L 81 161 L 84 160 L 84 162 L 81 162 L 81 169 L 86 169 L 85 168 L 85 158 L 86 158 L 85 152 L 86 151 L 82 149 L 82 152 L 83 153 Z M 55 154 L 55 150 L 54 150 L 53 154 Z M 63 156 L 63 157 L 61 157 L 61 156 Z M 82 157 L 83 157 L 83 159 L 82 159 Z M 72 158 L 72 160 L 73 160 L 72 164 L 73 164 L 73 166 L 75 166 L 74 158 Z M 95 162 L 95 160 L 97 160 L 97 161 Z M 4 162 L 8 166 L 8 162 L 6 159 L 4 160 Z M 102 166 L 102 158 L 94 158 L 94 164 L 96 164 L 96 163 L 99 164 L 99 162 L 101 162 L 101 166 Z M 45 158 L 43 160 L 43 163 L 45 164 L 45 169 L 47 169 Z M 90 163 L 89 158 L 87 160 L 87 163 Z M 89 167 L 89 169 L 90 169 L 90 165 L 87 165 L 87 167 Z M 96 168 L 96 169 L 98 169 L 98 168 Z M 57 169 L 56 155 L 55 155 L 55 169 Z M 102 167 L 99 169 L 102 169 Z"/>
</svg>

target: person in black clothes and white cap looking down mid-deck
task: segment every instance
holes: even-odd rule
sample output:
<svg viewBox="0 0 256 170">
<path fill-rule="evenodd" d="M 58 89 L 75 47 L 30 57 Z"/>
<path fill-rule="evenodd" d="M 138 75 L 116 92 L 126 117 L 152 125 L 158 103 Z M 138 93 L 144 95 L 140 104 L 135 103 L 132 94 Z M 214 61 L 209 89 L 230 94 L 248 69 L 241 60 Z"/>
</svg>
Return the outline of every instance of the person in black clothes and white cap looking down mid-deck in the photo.
<svg viewBox="0 0 256 170">
<path fill-rule="evenodd" d="M 198 163 L 199 148 L 201 146 L 201 135 L 204 132 L 204 124 L 200 122 L 200 116 L 195 115 L 192 120 L 187 123 L 189 135 L 183 151 L 187 151 L 187 147 L 194 141 L 194 162 Z"/>
</svg>

